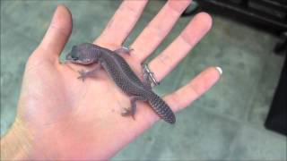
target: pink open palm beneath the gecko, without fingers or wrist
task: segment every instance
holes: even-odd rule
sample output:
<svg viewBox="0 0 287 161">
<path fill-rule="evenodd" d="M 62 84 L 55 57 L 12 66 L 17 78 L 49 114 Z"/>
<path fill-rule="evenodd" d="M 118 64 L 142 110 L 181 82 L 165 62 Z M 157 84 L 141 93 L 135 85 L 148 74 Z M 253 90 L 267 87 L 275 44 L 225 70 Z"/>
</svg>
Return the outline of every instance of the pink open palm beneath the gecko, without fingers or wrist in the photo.
<svg viewBox="0 0 287 161">
<path fill-rule="evenodd" d="M 135 120 L 121 116 L 122 108 L 129 106 L 129 98 L 106 72 L 99 71 L 83 82 L 76 79 L 82 66 L 39 62 L 38 52 L 41 55 L 45 51 L 37 49 L 26 66 L 18 119 L 35 137 L 32 140 L 37 140 L 33 146 L 39 147 L 36 149 L 41 155 L 53 157 L 57 151 L 66 155 L 63 158 L 77 158 L 75 152 L 90 147 L 91 151 L 86 150 L 83 156 L 100 157 L 100 149 L 94 151 L 100 145 L 116 148 L 119 143 L 126 144 L 151 125 L 144 119 L 156 119 L 147 107 L 138 110 L 145 112 Z"/>
</svg>

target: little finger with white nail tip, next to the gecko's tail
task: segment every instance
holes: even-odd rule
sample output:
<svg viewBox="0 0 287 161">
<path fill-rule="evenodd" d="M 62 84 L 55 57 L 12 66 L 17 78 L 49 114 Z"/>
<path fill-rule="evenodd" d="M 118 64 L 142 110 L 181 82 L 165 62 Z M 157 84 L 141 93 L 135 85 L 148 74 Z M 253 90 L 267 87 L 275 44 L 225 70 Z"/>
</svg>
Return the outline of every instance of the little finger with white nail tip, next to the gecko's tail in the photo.
<svg viewBox="0 0 287 161">
<path fill-rule="evenodd" d="M 173 111 L 178 111 L 196 98 L 200 97 L 204 92 L 213 87 L 213 84 L 219 80 L 222 69 L 219 67 L 209 67 L 191 80 L 186 86 L 178 89 L 164 99 L 170 105 Z"/>
</svg>

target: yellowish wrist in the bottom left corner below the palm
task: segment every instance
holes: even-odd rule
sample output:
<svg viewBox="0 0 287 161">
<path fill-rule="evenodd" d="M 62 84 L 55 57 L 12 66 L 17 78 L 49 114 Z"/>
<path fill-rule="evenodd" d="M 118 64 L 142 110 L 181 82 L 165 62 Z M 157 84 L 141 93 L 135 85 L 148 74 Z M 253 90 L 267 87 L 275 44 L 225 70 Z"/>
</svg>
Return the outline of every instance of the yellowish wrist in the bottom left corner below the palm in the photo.
<svg viewBox="0 0 287 161">
<path fill-rule="evenodd" d="M 30 140 L 28 129 L 16 117 L 11 129 L 1 138 L 1 160 L 28 159 Z"/>
</svg>

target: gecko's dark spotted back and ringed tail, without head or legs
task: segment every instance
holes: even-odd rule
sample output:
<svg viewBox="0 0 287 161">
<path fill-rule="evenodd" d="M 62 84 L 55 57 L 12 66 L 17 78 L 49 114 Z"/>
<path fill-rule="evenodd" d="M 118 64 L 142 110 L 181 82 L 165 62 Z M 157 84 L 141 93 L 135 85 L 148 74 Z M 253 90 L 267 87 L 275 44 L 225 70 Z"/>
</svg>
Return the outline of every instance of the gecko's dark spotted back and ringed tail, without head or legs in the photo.
<svg viewBox="0 0 287 161">
<path fill-rule="evenodd" d="M 143 82 L 135 75 L 124 58 L 105 49 L 102 50 L 101 57 L 103 59 L 100 60 L 101 64 L 120 89 L 129 95 L 144 97 L 163 120 L 168 123 L 175 123 L 176 118 L 170 106 L 151 89 L 143 85 Z"/>
</svg>

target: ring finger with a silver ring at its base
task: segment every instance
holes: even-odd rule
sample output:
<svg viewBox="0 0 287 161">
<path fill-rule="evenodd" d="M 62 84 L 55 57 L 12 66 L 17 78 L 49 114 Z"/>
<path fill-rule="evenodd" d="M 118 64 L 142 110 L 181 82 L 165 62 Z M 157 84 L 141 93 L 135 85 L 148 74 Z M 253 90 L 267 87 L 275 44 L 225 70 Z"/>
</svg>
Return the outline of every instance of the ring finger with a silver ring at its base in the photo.
<svg viewBox="0 0 287 161">
<path fill-rule="evenodd" d="M 212 18 L 207 13 L 198 13 L 189 22 L 186 29 L 176 38 L 161 55 L 155 57 L 149 64 L 156 80 L 161 80 L 167 75 L 204 37 L 212 26 Z"/>
</svg>

